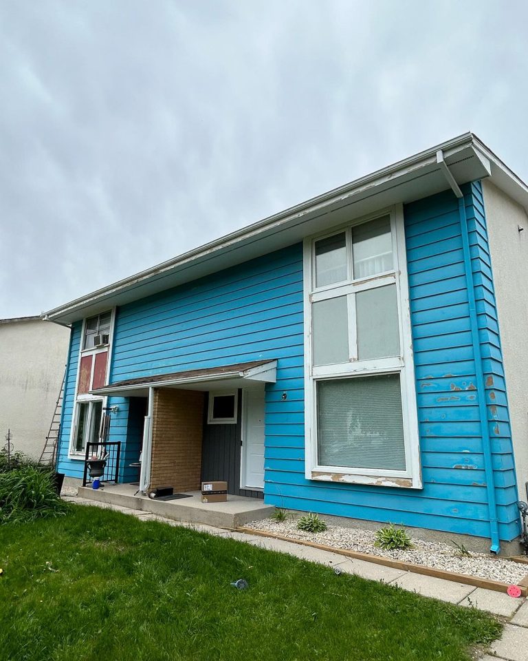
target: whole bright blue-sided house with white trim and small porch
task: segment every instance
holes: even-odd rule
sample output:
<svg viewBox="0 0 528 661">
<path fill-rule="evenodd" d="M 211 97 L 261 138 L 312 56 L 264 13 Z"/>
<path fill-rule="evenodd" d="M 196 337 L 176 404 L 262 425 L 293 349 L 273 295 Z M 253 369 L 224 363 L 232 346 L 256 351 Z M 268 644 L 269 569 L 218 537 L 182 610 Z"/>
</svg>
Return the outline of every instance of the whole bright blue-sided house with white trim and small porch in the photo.
<svg viewBox="0 0 528 661">
<path fill-rule="evenodd" d="M 528 481 L 527 209 L 468 133 L 47 312 L 59 470 L 118 443 L 142 492 L 222 480 L 498 552 Z"/>
</svg>

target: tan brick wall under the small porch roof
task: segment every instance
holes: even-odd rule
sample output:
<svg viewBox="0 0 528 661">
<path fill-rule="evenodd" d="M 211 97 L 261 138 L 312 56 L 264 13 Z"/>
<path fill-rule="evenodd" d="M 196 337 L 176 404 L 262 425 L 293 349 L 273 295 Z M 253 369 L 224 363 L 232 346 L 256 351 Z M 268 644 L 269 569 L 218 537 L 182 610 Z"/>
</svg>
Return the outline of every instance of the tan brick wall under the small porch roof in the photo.
<svg viewBox="0 0 528 661">
<path fill-rule="evenodd" d="M 150 489 L 199 490 L 203 401 L 195 390 L 154 390 Z"/>
</svg>

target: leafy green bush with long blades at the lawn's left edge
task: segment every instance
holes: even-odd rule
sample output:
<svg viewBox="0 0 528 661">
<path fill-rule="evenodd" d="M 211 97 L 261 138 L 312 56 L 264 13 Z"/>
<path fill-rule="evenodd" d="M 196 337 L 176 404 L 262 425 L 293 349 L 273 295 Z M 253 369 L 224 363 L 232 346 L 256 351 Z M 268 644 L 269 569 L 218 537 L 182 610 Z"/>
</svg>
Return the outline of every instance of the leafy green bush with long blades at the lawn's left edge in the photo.
<svg viewBox="0 0 528 661">
<path fill-rule="evenodd" d="M 30 465 L 0 474 L 0 523 L 60 516 L 67 510 L 67 503 L 56 494 L 49 470 Z"/>
</svg>

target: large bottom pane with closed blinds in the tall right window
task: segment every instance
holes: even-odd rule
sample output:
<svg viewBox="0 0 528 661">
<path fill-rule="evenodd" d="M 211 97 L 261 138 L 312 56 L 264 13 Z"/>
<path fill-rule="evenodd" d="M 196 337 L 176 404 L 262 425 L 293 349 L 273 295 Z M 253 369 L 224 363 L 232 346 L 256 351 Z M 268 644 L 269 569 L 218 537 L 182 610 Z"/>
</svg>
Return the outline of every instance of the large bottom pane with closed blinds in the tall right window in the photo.
<svg viewBox="0 0 528 661">
<path fill-rule="evenodd" d="M 398 374 L 319 381 L 317 392 L 320 465 L 405 470 Z"/>
</svg>

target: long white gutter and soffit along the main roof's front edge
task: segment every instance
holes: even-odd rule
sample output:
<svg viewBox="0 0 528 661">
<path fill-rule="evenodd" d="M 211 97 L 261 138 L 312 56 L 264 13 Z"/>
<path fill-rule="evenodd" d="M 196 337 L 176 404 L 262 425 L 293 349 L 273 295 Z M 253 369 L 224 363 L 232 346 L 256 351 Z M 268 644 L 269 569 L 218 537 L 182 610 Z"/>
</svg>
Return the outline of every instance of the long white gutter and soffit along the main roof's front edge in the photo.
<svg viewBox="0 0 528 661">
<path fill-rule="evenodd" d="M 477 155 L 475 145 L 481 154 Z M 445 162 L 459 184 L 489 176 L 485 159 L 481 158 L 486 149 L 473 134 L 463 134 L 311 198 L 296 207 L 250 224 L 177 258 L 54 308 L 43 317 L 54 322 L 71 323 L 111 306 L 138 300 L 300 242 L 303 235 L 316 231 L 314 224 L 329 222 L 329 218 L 338 218 L 340 213 L 350 214 L 357 210 L 358 213 L 364 214 L 367 206 L 371 207 L 371 211 L 375 211 L 378 207 L 395 202 L 409 202 L 432 195 L 442 190 L 441 182 L 445 182 L 437 164 L 439 150 L 443 152 Z M 400 199 L 397 199 L 398 196 Z"/>
</svg>

